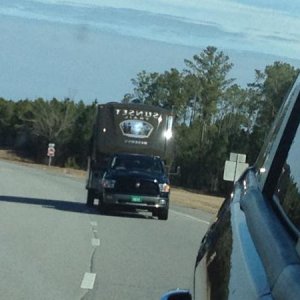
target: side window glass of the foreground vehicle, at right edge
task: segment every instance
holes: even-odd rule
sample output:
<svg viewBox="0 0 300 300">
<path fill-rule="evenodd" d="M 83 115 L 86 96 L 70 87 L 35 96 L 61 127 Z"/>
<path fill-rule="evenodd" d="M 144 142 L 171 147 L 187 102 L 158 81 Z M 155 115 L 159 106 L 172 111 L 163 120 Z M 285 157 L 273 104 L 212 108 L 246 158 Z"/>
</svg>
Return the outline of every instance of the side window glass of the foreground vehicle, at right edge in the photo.
<svg viewBox="0 0 300 300">
<path fill-rule="evenodd" d="M 300 232 L 300 127 L 282 168 L 276 196 L 284 212 Z"/>
</svg>

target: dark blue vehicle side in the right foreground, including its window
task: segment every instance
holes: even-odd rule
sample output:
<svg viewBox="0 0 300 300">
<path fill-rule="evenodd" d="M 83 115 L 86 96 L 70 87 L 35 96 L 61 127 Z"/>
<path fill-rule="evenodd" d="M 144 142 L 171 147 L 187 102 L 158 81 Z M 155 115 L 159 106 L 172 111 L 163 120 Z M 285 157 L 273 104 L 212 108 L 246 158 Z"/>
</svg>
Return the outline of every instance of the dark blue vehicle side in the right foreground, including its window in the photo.
<svg viewBox="0 0 300 300">
<path fill-rule="evenodd" d="M 300 299 L 299 121 L 300 76 L 204 236 L 193 290 L 162 299 Z"/>
</svg>

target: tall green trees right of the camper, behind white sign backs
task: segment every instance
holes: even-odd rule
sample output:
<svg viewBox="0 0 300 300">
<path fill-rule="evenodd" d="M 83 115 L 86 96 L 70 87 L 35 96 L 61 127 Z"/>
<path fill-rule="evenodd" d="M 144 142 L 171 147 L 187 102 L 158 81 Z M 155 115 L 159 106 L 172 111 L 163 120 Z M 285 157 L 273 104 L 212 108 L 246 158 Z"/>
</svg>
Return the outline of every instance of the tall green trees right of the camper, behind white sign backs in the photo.
<svg viewBox="0 0 300 300">
<path fill-rule="evenodd" d="M 182 176 L 176 183 L 209 192 L 226 188 L 222 176 L 230 152 L 245 153 L 254 163 L 265 134 L 298 70 L 275 62 L 256 70 L 247 88 L 228 74 L 233 64 L 215 47 L 207 47 L 186 68 L 162 74 L 143 71 L 132 80 L 133 94 L 124 102 L 172 109 L 176 116 L 176 164 Z"/>
</svg>

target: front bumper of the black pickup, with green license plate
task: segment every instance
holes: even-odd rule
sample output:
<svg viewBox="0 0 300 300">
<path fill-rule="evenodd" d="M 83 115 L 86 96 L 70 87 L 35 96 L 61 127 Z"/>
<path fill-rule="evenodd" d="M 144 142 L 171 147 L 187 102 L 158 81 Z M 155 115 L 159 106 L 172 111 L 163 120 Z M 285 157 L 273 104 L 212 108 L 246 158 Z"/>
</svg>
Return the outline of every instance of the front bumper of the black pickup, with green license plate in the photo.
<svg viewBox="0 0 300 300">
<path fill-rule="evenodd" d="M 166 208 L 169 206 L 169 199 L 160 196 L 124 195 L 124 194 L 103 194 L 103 204 L 113 206 L 131 206 L 140 209 L 151 210 L 151 208 Z"/>
</svg>

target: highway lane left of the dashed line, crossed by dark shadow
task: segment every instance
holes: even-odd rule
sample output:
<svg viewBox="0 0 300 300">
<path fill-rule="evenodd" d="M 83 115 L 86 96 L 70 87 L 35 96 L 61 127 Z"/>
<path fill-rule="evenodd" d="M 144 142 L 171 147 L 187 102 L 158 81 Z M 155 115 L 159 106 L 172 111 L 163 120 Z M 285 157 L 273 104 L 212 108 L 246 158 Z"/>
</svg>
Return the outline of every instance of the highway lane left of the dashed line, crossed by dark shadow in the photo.
<svg viewBox="0 0 300 300">
<path fill-rule="evenodd" d="M 92 232 L 82 184 L 0 163 L 2 299 L 80 299 Z"/>
</svg>

